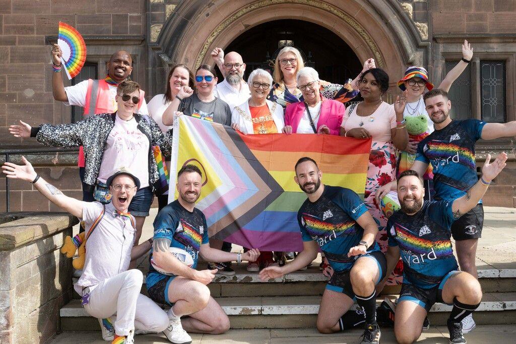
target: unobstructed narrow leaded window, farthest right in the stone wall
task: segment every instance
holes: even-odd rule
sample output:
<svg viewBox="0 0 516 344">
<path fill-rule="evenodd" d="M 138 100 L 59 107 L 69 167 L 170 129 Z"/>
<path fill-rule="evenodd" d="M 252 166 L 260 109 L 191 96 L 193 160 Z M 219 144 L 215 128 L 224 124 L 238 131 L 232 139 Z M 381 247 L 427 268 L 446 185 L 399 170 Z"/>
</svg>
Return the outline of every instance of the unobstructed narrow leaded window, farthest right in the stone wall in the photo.
<svg viewBox="0 0 516 344">
<path fill-rule="evenodd" d="M 483 121 L 504 123 L 505 62 L 480 61 L 480 116 Z"/>
</svg>

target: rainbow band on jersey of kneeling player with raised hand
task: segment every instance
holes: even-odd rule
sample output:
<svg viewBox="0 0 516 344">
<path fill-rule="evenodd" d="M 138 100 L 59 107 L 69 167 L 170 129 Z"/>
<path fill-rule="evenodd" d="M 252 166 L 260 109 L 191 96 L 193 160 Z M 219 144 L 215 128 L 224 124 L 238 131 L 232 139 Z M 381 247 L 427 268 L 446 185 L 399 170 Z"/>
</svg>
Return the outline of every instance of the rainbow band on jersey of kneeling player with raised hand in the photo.
<svg viewBox="0 0 516 344">
<path fill-rule="evenodd" d="M 451 241 L 448 240 L 428 240 L 417 237 L 410 233 L 407 228 L 395 225 L 396 234 L 398 235 L 398 243 L 401 249 L 411 251 L 412 254 L 427 254 L 433 248 L 437 258 L 443 258 L 453 255 Z"/>
</svg>

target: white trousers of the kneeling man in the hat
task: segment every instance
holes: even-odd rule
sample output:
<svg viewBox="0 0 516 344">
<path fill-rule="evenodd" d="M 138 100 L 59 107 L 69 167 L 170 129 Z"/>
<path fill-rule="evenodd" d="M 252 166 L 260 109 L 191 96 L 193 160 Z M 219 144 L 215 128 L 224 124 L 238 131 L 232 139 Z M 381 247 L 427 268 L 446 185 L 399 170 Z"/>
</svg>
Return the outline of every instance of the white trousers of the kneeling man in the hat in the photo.
<svg viewBox="0 0 516 344">
<path fill-rule="evenodd" d="M 162 332 L 170 320 L 154 301 L 140 294 L 142 283 L 143 274 L 136 269 L 110 277 L 90 287 L 89 302 L 84 309 L 99 319 L 116 314 L 113 325 L 119 336 L 127 336 L 135 329 L 139 333 Z"/>
</svg>

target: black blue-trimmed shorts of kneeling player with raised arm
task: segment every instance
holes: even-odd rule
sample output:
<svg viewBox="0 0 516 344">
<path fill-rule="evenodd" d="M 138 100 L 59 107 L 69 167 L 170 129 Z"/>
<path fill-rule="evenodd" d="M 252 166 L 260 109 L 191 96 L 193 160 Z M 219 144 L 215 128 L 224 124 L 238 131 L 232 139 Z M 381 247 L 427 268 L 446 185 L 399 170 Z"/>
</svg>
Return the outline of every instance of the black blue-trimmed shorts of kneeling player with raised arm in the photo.
<svg viewBox="0 0 516 344">
<path fill-rule="evenodd" d="M 420 305 L 421 307 L 426 309 L 426 312 L 430 312 L 430 308 L 432 308 L 433 304 L 436 302 L 446 303 L 443 301 L 442 293 L 444 284 L 449 279 L 449 277 L 453 276 L 456 273 L 460 273 L 460 271 L 454 270 L 450 271 L 443 277 L 441 283 L 437 287 L 433 287 L 430 289 L 419 288 L 412 283 L 404 282 L 401 286 L 401 291 L 399 293 L 399 301 L 412 301 Z"/>
</svg>

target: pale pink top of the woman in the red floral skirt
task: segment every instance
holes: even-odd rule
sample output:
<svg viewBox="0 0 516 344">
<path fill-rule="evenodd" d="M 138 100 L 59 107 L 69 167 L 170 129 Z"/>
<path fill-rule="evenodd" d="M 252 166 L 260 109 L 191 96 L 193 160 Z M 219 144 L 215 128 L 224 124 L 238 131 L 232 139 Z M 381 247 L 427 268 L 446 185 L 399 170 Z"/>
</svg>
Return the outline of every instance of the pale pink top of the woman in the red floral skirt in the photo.
<svg viewBox="0 0 516 344">
<path fill-rule="evenodd" d="M 346 109 L 341 124 L 346 131 L 362 127 L 373 137 L 373 141 L 392 141 L 391 129 L 396 127 L 396 112 L 393 105 L 382 102 L 373 114 L 366 117 L 358 116 L 357 107 L 358 105 L 351 113 L 348 113 L 350 107 Z M 362 126 L 361 122 L 364 123 Z"/>
</svg>

